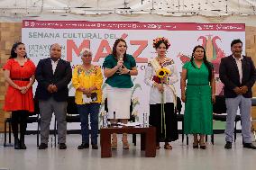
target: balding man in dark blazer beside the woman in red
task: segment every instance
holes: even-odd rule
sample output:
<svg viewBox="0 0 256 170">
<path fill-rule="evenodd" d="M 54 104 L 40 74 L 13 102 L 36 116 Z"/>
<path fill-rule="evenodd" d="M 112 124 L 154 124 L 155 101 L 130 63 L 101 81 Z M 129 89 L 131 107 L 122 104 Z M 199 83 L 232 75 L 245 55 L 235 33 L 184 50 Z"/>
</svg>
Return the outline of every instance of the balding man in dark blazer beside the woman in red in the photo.
<svg viewBox="0 0 256 170">
<path fill-rule="evenodd" d="M 60 58 L 59 44 L 50 46 L 50 58 L 41 59 L 36 68 L 38 82 L 35 96 L 39 100 L 41 114 L 41 145 L 48 148 L 50 120 L 54 112 L 58 124 L 59 149 L 66 149 L 68 85 L 72 77 L 70 63 Z"/>
</svg>

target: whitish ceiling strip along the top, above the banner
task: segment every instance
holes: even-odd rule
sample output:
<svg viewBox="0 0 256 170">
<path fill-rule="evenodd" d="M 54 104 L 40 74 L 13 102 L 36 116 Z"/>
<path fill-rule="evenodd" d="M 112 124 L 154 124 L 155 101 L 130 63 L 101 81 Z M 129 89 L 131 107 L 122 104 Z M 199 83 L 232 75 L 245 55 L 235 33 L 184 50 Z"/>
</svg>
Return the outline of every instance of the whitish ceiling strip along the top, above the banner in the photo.
<svg viewBox="0 0 256 170">
<path fill-rule="evenodd" d="M 256 0 L 0 0 L 1 16 L 41 14 L 254 15 Z"/>
</svg>

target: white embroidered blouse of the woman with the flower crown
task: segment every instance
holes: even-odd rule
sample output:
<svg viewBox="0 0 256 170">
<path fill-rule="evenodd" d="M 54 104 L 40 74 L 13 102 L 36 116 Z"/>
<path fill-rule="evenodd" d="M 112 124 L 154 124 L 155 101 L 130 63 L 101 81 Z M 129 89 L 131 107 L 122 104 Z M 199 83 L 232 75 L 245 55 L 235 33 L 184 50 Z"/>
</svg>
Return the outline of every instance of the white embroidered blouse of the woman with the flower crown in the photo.
<svg viewBox="0 0 256 170">
<path fill-rule="evenodd" d="M 169 85 L 173 85 L 176 82 L 178 82 L 178 72 L 175 64 L 172 63 L 171 65 L 168 65 L 165 67 L 168 67 L 171 72 L 170 75 L 168 76 Z M 161 97 L 162 97 L 162 94 L 160 93 L 158 88 L 153 85 L 154 83 L 154 81 L 152 80 L 153 76 L 156 76 L 156 71 L 151 66 L 151 64 L 149 64 L 145 69 L 144 83 L 146 85 L 151 86 L 150 104 L 161 103 Z M 172 90 L 168 85 L 164 84 L 164 93 L 163 93 L 164 103 L 173 103 L 173 98 L 174 96 L 173 96 Z"/>
</svg>

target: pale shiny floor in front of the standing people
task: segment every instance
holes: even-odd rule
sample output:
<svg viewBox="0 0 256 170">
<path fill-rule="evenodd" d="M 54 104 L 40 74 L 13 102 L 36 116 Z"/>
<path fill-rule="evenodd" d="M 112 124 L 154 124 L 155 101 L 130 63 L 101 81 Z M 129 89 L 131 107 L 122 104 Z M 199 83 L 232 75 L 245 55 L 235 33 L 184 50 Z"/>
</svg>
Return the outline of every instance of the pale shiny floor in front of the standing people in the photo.
<svg viewBox="0 0 256 170">
<path fill-rule="evenodd" d="M 51 137 L 51 136 L 50 136 Z M 231 150 L 224 149 L 224 134 L 215 135 L 215 145 L 207 144 L 206 150 L 192 148 L 192 136 L 189 136 L 189 145 L 182 144 L 181 136 L 172 143 L 172 150 L 165 150 L 161 143 L 156 157 L 144 157 L 140 150 L 140 138 L 137 137 L 137 146 L 123 150 L 121 136 L 118 149 L 113 151 L 113 157 L 101 158 L 100 148 L 78 150 L 81 137 L 67 136 L 67 150 L 49 148 L 38 150 L 36 136 L 25 137 L 26 150 L 14 148 L 0 148 L 0 170 L 255 170 L 256 150 L 242 148 L 242 137 L 238 139 Z M 255 142 L 253 142 L 255 144 Z"/>
</svg>

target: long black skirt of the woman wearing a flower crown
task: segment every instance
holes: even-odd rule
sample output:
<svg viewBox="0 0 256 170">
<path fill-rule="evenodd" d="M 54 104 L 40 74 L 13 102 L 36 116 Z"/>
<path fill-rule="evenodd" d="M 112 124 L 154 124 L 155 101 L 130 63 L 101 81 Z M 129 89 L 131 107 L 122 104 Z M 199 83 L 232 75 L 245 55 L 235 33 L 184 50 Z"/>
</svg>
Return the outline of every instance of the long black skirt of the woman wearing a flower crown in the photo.
<svg viewBox="0 0 256 170">
<path fill-rule="evenodd" d="M 150 104 L 149 122 L 151 126 L 156 127 L 156 140 L 157 142 L 175 141 L 178 139 L 178 121 L 173 103 L 164 104 L 164 114 L 166 128 L 164 128 L 164 116 L 161 116 L 161 104 Z"/>
</svg>

